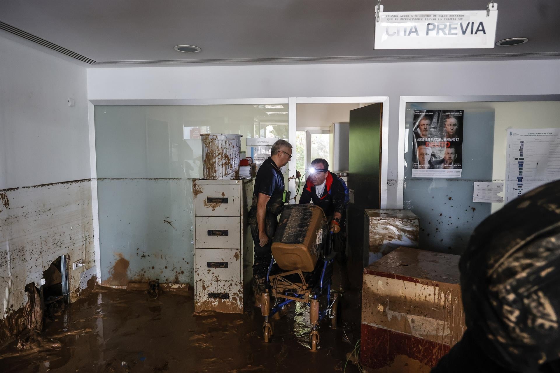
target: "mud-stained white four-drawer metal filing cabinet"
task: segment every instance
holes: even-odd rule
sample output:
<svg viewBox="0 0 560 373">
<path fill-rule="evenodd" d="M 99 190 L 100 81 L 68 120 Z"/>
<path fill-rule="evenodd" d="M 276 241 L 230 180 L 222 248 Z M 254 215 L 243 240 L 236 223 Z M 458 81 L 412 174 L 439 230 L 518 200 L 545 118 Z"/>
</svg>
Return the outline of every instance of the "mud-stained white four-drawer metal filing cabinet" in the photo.
<svg viewBox="0 0 560 373">
<path fill-rule="evenodd" d="M 194 310 L 243 313 L 253 278 L 253 181 L 195 180 Z"/>
</svg>

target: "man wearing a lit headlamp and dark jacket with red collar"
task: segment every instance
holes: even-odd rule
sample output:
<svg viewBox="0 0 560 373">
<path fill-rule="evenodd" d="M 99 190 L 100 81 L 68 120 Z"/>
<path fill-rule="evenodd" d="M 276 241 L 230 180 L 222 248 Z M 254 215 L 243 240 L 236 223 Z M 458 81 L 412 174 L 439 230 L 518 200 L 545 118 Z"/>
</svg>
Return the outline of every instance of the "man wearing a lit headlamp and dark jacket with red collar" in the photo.
<svg viewBox="0 0 560 373">
<path fill-rule="evenodd" d="M 300 204 L 313 202 L 323 209 L 327 219 L 330 219 L 330 232 L 340 232 L 335 236 L 334 250 L 341 254 L 341 259 L 344 261 L 348 188 L 337 174 L 329 171 L 329 163 L 325 159 L 314 159 L 308 172 L 309 176 L 301 193 Z"/>
</svg>

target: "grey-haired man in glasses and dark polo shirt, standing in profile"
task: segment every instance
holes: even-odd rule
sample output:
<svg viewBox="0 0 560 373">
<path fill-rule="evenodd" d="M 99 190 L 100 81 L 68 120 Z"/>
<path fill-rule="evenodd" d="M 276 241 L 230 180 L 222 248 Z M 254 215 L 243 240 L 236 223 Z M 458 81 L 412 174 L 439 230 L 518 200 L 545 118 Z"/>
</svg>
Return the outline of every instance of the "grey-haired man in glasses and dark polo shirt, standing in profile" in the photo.
<svg viewBox="0 0 560 373">
<path fill-rule="evenodd" d="M 253 203 L 249 211 L 249 225 L 255 242 L 253 262 L 253 292 L 255 305 L 260 306 L 260 295 L 264 292 L 268 266 L 272 259 L 272 238 L 276 232 L 278 215 L 284 205 L 284 176 L 281 167 L 292 158 L 292 145 L 286 140 L 278 140 L 270 157 L 263 162 L 256 173 L 253 188 Z"/>
</svg>

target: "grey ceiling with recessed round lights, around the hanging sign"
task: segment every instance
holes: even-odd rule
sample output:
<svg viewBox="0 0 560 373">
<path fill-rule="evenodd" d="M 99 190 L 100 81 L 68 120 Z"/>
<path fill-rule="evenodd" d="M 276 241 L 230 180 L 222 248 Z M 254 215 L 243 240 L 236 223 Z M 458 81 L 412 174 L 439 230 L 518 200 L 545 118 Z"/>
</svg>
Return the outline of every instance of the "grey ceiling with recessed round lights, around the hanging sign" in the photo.
<svg viewBox="0 0 560 373">
<path fill-rule="evenodd" d="M 374 0 L 2 0 L 0 28 L 94 65 L 560 58 L 560 0 L 496 2 L 496 40 L 529 43 L 374 50 Z M 484 10 L 487 0 L 381 3 L 385 11 L 464 11 Z M 202 51 L 175 51 L 180 44 Z"/>
</svg>

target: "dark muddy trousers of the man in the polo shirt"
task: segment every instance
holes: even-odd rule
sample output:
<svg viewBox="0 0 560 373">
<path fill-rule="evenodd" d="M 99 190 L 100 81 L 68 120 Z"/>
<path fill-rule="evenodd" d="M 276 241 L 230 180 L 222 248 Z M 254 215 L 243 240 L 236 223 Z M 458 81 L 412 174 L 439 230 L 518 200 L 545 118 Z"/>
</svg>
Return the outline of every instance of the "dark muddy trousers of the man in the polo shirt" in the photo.
<svg viewBox="0 0 560 373">
<path fill-rule="evenodd" d="M 274 232 L 276 232 L 276 226 L 278 225 L 278 219 L 274 214 L 268 213 L 264 218 L 265 233 L 268 236 L 268 243 L 264 246 L 259 244 L 259 228 L 256 225 L 255 219 L 249 219 L 249 225 L 251 227 L 251 235 L 253 235 L 253 242 L 255 243 L 255 256 L 253 260 L 253 292 L 255 296 L 260 295 L 264 292 L 265 282 L 267 280 L 268 266 L 272 260 L 272 238 L 274 237 Z"/>
</svg>

